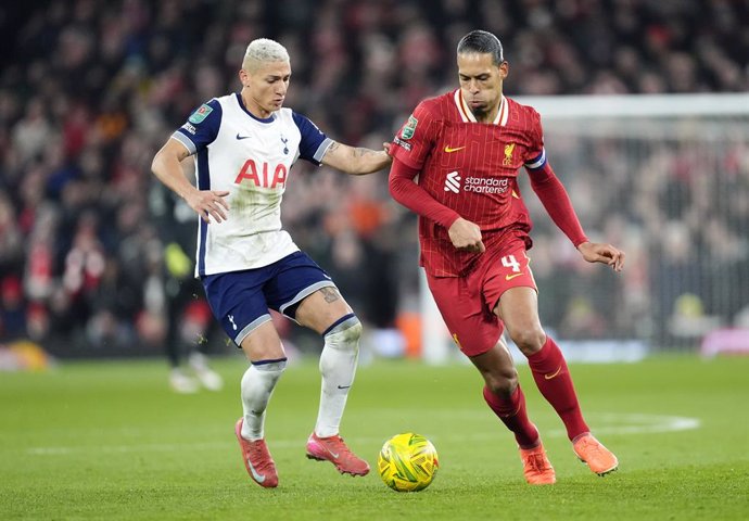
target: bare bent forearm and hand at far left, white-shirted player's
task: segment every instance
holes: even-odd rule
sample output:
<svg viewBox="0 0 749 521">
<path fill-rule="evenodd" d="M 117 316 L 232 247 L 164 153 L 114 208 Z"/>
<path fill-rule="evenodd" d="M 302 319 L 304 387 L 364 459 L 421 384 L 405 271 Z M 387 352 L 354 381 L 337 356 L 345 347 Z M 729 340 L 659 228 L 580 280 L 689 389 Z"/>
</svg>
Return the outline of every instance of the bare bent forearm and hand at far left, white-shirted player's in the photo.
<svg viewBox="0 0 749 521">
<path fill-rule="evenodd" d="M 151 171 L 170 188 L 177 195 L 182 198 L 188 205 L 194 209 L 201 218 L 211 223 L 213 217 L 216 223 L 226 220 L 226 211 L 229 204 L 224 199 L 229 192 L 224 190 L 198 190 L 185 177 L 180 162 L 190 153 L 182 143 L 176 139 L 169 139 L 151 163 Z"/>
</svg>

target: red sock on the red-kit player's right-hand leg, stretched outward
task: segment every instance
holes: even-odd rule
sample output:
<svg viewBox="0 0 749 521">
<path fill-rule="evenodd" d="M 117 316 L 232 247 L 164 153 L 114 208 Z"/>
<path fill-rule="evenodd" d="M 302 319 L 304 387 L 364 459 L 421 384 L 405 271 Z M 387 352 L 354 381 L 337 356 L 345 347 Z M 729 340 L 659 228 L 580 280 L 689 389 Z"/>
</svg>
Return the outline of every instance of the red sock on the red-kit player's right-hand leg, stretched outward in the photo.
<svg viewBox="0 0 749 521">
<path fill-rule="evenodd" d="M 573 440 L 584 432 L 589 432 L 580 410 L 564 355 L 550 336 L 546 336 L 546 343 L 541 351 L 528 357 L 528 363 L 541 394 L 564 422 L 567 436 Z"/>
</svg>

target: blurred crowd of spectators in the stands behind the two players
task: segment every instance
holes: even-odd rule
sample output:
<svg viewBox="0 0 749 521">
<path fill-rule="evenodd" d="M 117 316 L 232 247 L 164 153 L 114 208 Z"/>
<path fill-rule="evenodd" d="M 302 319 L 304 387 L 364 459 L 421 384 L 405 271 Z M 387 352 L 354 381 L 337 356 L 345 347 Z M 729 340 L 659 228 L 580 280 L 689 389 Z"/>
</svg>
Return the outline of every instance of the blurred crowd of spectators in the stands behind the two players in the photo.
<svg viewBox="0 0 749 521">
<path fill-rule="evenodd" d="M 75 0 L 1 9 L 0 341 L 28 338 L 68 355 L 168 351 L 176 364 L 195 343 L 231 348 L 192 278 L 196 217 L 150 164 L 202 102 L 239 90 L 237 72 L 254 38 L 277 39 L 291 54 L 285 106 L 332 139 L 374 149 L 421 99 L 457 86 L 455 46 L 473 28 L 502 39 L 508 96 L 749 90 L 749 2 L 738 0 Z M 634 182 L 630 173 L 598 152 L 604 164 L 586 171 L 613 176 L 611 194 L 597 209 L 579 209 L 589 227 L 615 202 L 622 212 L 601 230 L 614 242 L 617 230 L 647 219 L 637 213 L 639 192 L 620 190 Z M 551 161 L 560 174 L 580 167 Z M 734 166 L 737 182 L 749 182 L 746 157 Z M 659 193 L 684 192 L 674 221 L 700 204 L 676 177 L 646 201 L 658 208 Z M 740 246 L 749 203 L 736 205 L 735 223 L 708 225 L 706 247 L 725 247 L 726 236 Z M 300 162 L 283 220 L 370 330 L 394 331 L 404 310 L 416 308 L 415 217 L 391 201 L 386 173 L 350 178 Z M 663 250 L 674 264 L 689 258 L 684 249 L 695 246 L 684 229 L 674 224 L 662 233 L 673 241 Z M 555 272 L 583 263 L 554 237 L 539 224 L 534 269 L 546 280 L 542 291 L 548 288 L 545 322 L 567 338 L 632 334 L 636 314 L 598 307 L 595 321 L 580 320 L 591 314 L 580 315 L 585 303 L 575 301 L 573 279 L 564 289 Z M 626 280 L 647 292 L 636 258 L 630 279 L 601 276 L 593 284 L 600 297 L 587 306 L 637 298 Z M 738 258 L 746 262 L 747 252 Z M 651 268 L 673 278 L 672 266 Z M 687 262 L 682 269 L 697 268 Z M 303 333 L 282 328 L 304 345 Z"/>
</svg>

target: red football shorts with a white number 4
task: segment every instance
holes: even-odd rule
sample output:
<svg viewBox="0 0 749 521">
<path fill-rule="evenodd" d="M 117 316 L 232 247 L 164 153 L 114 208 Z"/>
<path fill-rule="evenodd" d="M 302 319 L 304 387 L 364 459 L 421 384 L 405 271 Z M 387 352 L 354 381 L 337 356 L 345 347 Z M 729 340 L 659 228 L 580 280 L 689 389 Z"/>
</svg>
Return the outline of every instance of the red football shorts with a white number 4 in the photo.
<svg viewBox="0 0 749 521">
<path fill-rule="evenodd" d="M 522 241 L 482 257 L 465 277 L 432 277 L 429 289 L 453 340 L 466 356 L 486 353 L 499 341 L 505 326 L 492 313 L 510 288 L 536 289 Z"/>
</svg>

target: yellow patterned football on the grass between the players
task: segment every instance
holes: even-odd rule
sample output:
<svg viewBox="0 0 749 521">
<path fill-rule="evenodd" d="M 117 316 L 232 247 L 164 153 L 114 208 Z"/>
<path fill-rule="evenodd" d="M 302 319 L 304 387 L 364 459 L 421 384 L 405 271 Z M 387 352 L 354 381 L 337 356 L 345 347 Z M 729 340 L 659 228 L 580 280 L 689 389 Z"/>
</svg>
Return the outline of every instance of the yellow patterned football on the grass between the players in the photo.
<svg viewBox="0 0 749 521">
<path fill-rule="evenodd" d="M 440 462 L 432 442 L 406 432 L 385 442 L 377 458 L 377 468 L 384 484 L 392 490 L 417 492 L 432 483 Z"/>
</svg>

